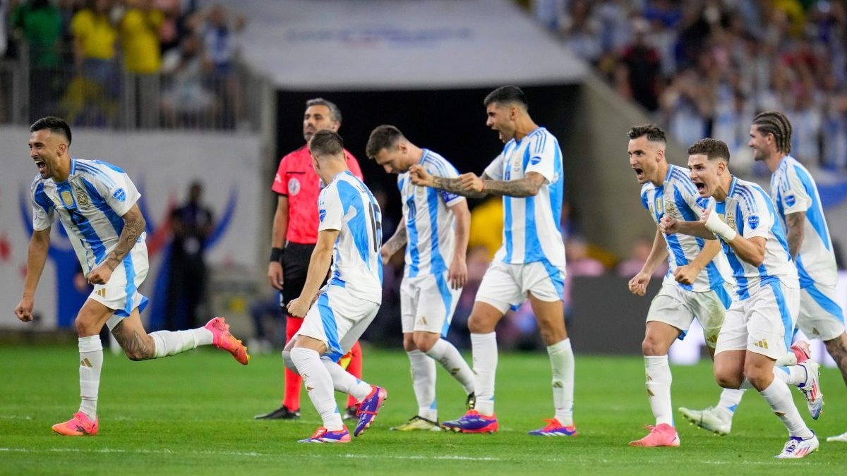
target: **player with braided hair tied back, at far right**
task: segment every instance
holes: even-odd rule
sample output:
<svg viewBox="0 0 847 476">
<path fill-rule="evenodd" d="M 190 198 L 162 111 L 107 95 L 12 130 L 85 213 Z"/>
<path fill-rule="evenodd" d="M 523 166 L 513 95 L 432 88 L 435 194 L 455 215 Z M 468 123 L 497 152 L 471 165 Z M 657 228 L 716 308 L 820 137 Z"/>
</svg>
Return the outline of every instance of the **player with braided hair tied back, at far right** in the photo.
<svg viewBox="0 0 847 476">
<path fill-rule="evenodd" d="M 753 148 L 754 158 L 764 162 L 772 172 L 771 200 L 776 204 L 779 218 L 785 226 L 789 253 L 800 275 L 797 325 L 803 334 L 823 340 L 847 383 L 847 334 L 844 333 L 844 314 L 835 301 L 838 270 L 833 241 L 829 237 L 815 180 L 800 162 L 789 155 L 789 119 L 777 111 L 760 113 L 750 125 L 749 145 Z M 800 361 L 807 357 L 803 352 L 796 354 Z M 817 372 L 817 367 L 811 366 L 810 371 Z M 734 397 L 722 395 L 716 407 L 705 410 L 679 410 L 703 428 L 728 433 L 734 409 L 741 401 L 741 395 Z M 815 418 L 820 411 L 821 407 L 810 407 Z M 847 441 L 847 433 L 827 440 Z"/>
</svg>

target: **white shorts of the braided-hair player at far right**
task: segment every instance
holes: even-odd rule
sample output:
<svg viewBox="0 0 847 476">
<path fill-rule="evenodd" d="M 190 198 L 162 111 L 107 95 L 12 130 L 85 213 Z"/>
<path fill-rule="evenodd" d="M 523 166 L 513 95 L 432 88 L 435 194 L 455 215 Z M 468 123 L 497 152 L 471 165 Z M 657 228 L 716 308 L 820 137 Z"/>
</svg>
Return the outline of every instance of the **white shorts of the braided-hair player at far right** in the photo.
<svg viewBox="0 0 847 476">
<path fill-rule="evenodd" d="M 815 284 L 800 289 L 797 326 L 803 334 L 823 341 L 844 334 L 844 313 L 835 297 L 835 286 Z"/>
</svg>

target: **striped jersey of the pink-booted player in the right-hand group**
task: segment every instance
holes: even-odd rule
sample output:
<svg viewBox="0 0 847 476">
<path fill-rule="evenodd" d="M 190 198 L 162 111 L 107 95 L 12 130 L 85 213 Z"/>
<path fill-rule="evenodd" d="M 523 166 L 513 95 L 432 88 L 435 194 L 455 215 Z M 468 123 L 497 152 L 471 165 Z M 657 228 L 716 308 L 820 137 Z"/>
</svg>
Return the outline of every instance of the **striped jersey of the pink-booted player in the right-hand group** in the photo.
<svg viewBox="0 0 847 476">
<path fill-rule="evenodd" d="M 667 175 L 662 185 L 656 187 L 652 182 L 647 182 L 641 187 L 641 203 L 650 212 L 656 225 L 665 213 L 679 221 L 699 220 L 703 213 L 702 205 L 708 201 L 698 201 L 698 199 L 700 194 L 697 193 L 697 188 L 689 178 L 688 169 L 673 163 L 668 164 Z M 700 271 L 694 284 L 684 285 L 673 279 L 673 273 L 678 267 L 691 263 L 706 245 L 706 240 L 691 235 L 673 234 L 665 235 L 665 241 L 667 241 L 668 253 L 667 274 L 664 280 L 666 285 L 678 285 L 685 290 L 696 292 L 715 290 L 722 298 L 730 299 L 729 296 L 723 296 L 725 294 L 723 283 L 733 283 L 733 272 L 723 253 L 717 253 L 715 259 Z M 724 304 L 728 307 L 729 302 Z"/>
</svg>

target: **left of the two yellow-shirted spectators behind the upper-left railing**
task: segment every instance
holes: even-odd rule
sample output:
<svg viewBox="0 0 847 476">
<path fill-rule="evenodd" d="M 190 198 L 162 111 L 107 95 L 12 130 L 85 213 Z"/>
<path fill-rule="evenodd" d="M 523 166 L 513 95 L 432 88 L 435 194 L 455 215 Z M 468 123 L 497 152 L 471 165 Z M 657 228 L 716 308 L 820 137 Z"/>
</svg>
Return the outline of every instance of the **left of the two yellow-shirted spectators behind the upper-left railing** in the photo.
<svg viewBox="0 0 847 476">
<path fill-rule="evenodd" d="M 74 62 L 78 71 L 62 99 L 64 119 L 70 125 L 104 125 L 117 112 L 119 77 L 115 69 L 118 30 L 112 24 L 110 0 L 89 0 L 74 14 Z"/>
</svg>

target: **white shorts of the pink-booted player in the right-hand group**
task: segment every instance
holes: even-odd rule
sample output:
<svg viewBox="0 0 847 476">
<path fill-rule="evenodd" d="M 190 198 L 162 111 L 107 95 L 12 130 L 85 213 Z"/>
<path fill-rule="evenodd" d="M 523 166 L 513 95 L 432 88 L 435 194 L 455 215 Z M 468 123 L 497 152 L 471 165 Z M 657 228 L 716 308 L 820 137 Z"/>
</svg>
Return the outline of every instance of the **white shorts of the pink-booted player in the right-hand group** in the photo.
<svg viewBox="0 0 847 476">
<path fill-rule="evenodd" d="M 679 340 L 683 340 L 691 321 L 696 318 L 703 328 L 706 346 L 714 349 L 727 308 L 733 302 L 731 290 L 726 283 L 722 287 L 705 292 L 688 291 L 678 285 L 664 284 L 659 294 L 653 298 L 653 302 L 650 302 L 647 322 L 658 321 L 673 325 L 681 331 Z"/>
</svg>

